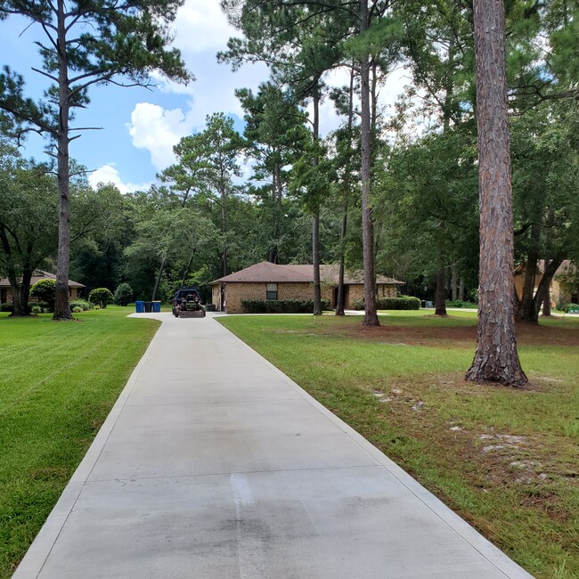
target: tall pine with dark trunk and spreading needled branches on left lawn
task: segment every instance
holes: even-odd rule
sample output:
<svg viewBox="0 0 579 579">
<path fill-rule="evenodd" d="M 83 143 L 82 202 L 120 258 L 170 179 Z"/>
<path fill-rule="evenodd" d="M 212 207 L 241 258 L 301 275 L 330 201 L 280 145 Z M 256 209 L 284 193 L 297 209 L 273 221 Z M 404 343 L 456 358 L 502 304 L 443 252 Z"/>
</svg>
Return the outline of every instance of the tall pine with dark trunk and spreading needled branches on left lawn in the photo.
<svg viewBox="0 0 579 579">
<path fill-rule="evenodd" d="M 23 94 L 23 78 L 4 67 L 0 73 L 0 110 L 9 113 L 16 135 L 48 135 L 56 158 L 59 188 L 59 252 L 54 319 L 71 319 L 69 308 L 69 144 L 86 127 L 71 126 L 73 111 L 88 104 L 95 84 L 148 86 L 150 73 L 187 81 L 180 53 L 168 49 L 168 23 L 183 0 L 126 0 L 122 4 L 64 0 L 0 0 L 0 19 L 20 15 L 44 32 L 38 41 L 37 71 L 51 81 L 42 102 Z M 4 115 L 5 116 L 5 115 Z M 4 127 L 6 123 L 3 123 Z"/>
</svg>

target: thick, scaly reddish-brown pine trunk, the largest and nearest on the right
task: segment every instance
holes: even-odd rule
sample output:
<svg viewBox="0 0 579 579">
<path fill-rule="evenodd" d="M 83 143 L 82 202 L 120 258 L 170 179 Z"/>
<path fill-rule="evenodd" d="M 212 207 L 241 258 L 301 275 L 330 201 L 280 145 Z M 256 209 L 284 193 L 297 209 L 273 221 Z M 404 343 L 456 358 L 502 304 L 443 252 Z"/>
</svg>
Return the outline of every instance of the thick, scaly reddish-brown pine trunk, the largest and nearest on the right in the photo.
<svg viewBox="0 0 579 579">
<path fill-rule="evenodd" d="M 474 0 L 480 266 L 477 352 L 466 378 L 519 387 L 510 132 L 502 0 Z"/>
</svg>

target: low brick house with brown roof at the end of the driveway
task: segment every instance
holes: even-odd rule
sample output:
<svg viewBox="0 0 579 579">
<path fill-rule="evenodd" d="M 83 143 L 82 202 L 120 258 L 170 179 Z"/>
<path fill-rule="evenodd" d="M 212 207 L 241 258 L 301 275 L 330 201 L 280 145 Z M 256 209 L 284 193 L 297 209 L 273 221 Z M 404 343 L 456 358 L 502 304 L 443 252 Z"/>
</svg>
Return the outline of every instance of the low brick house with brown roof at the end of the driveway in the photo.
<svg viewBox="0 0 579 579">
<path fill-rule="evenodd" d="M 320 265 L 322 299 L 335 307 L 338 298 L 338 265 Z M 211 301 L 217 311 L 242 314 L 242 299 L 312 299 L 314 265 L 278 265 L 268 261 L 251 265 L 211 281 Z M 403 281 L 389 277 L 376 278 L 379 298 L 396 298 Z M 356 299 L 363 298 L 363 272 L 344 275 L 345 305 L 351 308 Z"/>
</svg>

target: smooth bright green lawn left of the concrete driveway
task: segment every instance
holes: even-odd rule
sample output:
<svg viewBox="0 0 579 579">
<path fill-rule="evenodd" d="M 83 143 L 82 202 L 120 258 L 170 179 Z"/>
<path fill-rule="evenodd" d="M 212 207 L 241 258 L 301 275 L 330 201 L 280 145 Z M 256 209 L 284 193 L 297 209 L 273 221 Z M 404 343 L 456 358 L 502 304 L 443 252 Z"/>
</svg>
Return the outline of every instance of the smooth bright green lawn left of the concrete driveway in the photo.
<svg viewBox="0 0 579 579">
<path fill-rule="evenodd" d="M 159 322 L 129 307 L 12 319 L 0 314 L 0 577 L 58 500 Z"/>
</svg>

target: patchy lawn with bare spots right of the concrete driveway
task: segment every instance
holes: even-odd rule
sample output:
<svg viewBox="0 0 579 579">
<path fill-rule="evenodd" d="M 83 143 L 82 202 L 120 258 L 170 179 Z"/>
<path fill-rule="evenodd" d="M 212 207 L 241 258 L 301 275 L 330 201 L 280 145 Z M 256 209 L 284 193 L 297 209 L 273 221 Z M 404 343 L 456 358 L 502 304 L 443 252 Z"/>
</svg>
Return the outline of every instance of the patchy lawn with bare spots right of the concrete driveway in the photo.
<svg viewBox="0 0 579 579">
<path fill-rule="evenodd" d="M 465 382 L 476 314 L 219 321 L 531 574 L 579 576 L 579 320 L 519 328 L 526 389 Z"/>
</svg>

